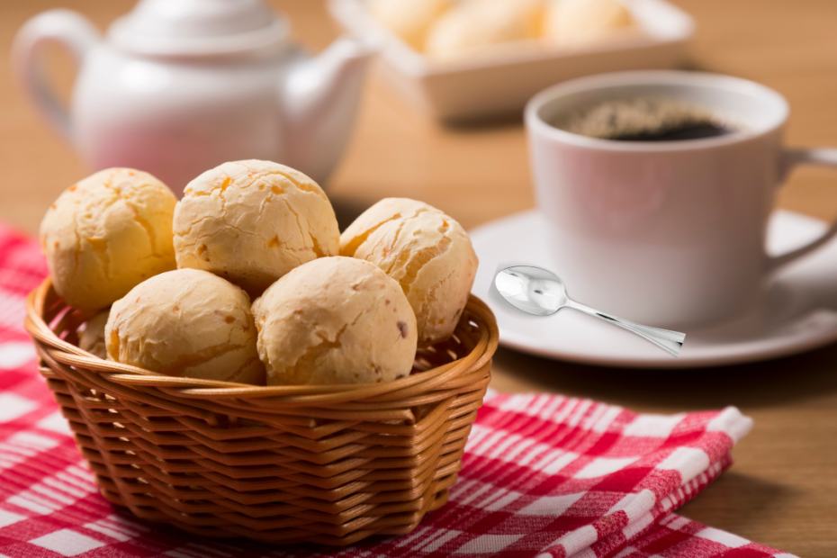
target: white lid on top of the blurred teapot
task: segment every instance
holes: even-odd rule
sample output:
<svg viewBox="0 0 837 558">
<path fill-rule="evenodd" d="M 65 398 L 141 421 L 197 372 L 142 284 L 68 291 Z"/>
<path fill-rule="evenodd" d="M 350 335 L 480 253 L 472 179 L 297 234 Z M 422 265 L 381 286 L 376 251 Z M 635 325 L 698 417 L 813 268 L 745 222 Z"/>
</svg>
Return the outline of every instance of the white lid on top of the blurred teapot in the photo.
<svg viewBox="0 0 837 558">
<path fill-rule="evenodd" d="M 238 54 L 283 43 L 288 24 L 261 0 L 139 0 L 108 35 L 140 54 Z"/>
</svg>

